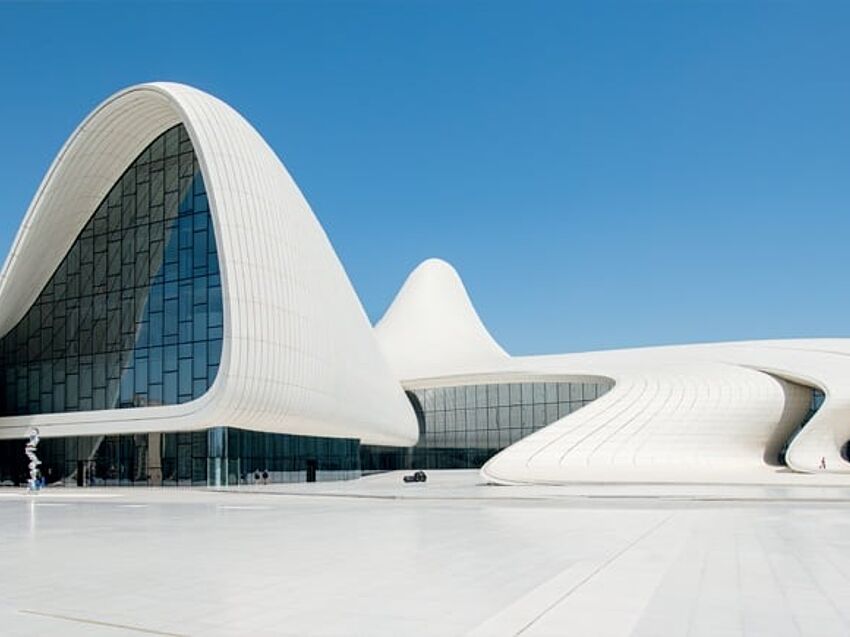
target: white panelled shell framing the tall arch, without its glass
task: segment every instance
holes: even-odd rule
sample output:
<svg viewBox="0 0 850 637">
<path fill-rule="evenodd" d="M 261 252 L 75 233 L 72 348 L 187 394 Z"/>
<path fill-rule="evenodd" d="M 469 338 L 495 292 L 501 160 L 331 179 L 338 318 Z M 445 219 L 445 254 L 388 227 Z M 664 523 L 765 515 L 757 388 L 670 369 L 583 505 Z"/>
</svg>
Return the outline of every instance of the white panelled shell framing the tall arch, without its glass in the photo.
<svg viewBox="0 0 850 637">
<path fill-rule="evenodd" d="M 227 425 L 411 444 L 413 411 L 333 247 L 268 144 L 230 106 L 173 83 L 125 89 L 74 131 L 48 170 L 0 273 L 0 335 L 32 306 L 124 170 L 158 135 L 188 133 L 221 270 L 221 362 L 177 405 L 0 419 L 0 437 Z"/>
</svg>

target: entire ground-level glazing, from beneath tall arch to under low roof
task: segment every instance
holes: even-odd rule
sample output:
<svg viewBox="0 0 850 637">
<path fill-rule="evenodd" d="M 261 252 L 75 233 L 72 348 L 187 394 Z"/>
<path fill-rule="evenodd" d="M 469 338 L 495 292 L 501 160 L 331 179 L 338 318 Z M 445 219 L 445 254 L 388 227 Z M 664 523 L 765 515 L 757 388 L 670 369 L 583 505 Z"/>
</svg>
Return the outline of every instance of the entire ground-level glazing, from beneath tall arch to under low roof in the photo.
<svg viewBox="0 0 850 637">
<path fill-rule="evenodd" d="M 44 438 L 48 484 L 207 486 L 356 478 L 393 469 L 479 468 L 519 439 L 605 394 L 613 383 L 517 382 L 408 392 L 413 447 L 214 427 L 202 431 Z M 0 483 L 24 484 L 24 440 L 0 441 Z"/>
</svg>

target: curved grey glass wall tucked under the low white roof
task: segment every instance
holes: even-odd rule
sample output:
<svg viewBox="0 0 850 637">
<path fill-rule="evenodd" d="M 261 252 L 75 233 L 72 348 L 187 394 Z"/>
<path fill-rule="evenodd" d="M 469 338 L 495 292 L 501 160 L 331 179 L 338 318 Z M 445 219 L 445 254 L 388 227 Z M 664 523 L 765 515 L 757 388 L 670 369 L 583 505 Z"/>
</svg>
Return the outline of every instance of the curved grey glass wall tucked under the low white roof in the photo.
<svg viewBox="0 0 850 637">
<path fill-rule="evenodd" d="M 419 421 L 414 447 L 363 445 L 363 471 L 472 469 L 521 438 L 551 424 L 613 387 L 613 382 L 525 382 L 414 389 Z"/>
</svg>

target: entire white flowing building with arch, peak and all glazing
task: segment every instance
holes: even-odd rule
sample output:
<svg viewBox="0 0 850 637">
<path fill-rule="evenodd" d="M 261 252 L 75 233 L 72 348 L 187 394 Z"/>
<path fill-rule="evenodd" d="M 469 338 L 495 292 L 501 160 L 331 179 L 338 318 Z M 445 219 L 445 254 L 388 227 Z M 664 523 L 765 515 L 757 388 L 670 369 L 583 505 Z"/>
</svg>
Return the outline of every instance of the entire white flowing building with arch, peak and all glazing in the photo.
<svg viewBox="0 0 850 637">
<path fill-rule="evenodd" d="M 260 135 L 169 83 L 50 167 L 0 273 L 0 378 L 0 479 L 30 427 L 78 484 L 850 471 L 850 340 L 511 357 L 438 259 L 373 330 Z"/>
</svg>

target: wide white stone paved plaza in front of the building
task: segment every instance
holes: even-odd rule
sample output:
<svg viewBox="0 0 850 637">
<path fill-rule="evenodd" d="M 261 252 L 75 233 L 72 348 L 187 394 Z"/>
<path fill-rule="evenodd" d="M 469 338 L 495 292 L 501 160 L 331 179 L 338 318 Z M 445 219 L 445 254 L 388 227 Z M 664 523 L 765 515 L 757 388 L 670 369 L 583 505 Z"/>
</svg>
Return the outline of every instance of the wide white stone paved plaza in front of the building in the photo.
<svg viewBox="0 0 850 637">
<path fill-rule="evenodd" d="M 3 635 L 848 635 L 850 485 L 0 490 Z"/>
</svg>

